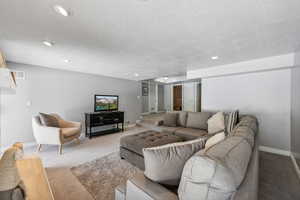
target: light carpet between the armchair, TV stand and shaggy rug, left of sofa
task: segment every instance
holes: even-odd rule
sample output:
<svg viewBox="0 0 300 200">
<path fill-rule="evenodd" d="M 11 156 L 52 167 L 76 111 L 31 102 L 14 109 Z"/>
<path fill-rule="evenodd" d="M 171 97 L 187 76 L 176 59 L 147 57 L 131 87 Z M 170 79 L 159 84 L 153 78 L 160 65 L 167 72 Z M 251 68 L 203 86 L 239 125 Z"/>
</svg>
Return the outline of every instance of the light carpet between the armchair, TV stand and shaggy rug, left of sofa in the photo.
<svg viewBox="0 0 300 200">
<path fill-rule="evenodd" d="M 123 133 L 115 133 L 88 139 L 81 137 L 80 144 L 72 142 L 64 145 L 63 154 L 58 154 L 57 145 L 43 145 L 41 152 L 36 152 L 36 145 L 24 147 L 25 155 L 37 155 L 46 168 L 48 179 L 55 200 L 94 200 L 91 194 L 73 175 L 70 168 L 104 157 L 119 151 L 120 138 L 145 130 L 134 127 Z"/>
</svg>

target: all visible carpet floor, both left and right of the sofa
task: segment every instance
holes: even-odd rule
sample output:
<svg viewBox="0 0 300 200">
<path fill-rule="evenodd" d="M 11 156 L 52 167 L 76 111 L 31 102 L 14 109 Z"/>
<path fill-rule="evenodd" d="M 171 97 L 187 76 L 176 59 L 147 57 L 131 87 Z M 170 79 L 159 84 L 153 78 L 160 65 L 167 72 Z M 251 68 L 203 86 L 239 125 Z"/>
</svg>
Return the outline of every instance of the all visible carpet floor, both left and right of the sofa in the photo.
<svg viewBox="0 0 300 200">
<path fill-rule="evenodd" d="M 37 154 L 42 158 L 56 200 L 93 200 L 70 167 L 119 151 L 119 141 L 123 135 L 142 130 L 145 128 L 134 127 L 124 133 L 91 140 L 83 137 L 80 144 L 65 145 L 63 155 L 58 154 L 57 146 L 43 146 L 40 153 L 36 153 L 36 146 L 27 146 L 25 154 Z M 300 181 L 289 157 L 260 152 L 259 200 L 277 199 L 300 199 Z"/>
</svg>

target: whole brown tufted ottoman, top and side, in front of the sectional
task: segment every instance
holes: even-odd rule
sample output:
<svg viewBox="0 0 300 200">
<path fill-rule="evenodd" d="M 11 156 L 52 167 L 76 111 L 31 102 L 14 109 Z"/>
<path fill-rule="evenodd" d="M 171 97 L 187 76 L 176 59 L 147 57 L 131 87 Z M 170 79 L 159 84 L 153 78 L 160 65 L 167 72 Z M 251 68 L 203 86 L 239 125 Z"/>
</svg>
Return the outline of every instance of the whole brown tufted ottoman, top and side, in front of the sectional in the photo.
<svg viewBox="0 0 300 200">
<path fill-rule="evenodd" d="M 120 156 L 141 170 L 145 169 L 143 148 L 156 147 L 164 144 L 180 142 L 176 135 L 147 130 L 134 135 L 124 136 L 120 140 Z"/>
</svg>

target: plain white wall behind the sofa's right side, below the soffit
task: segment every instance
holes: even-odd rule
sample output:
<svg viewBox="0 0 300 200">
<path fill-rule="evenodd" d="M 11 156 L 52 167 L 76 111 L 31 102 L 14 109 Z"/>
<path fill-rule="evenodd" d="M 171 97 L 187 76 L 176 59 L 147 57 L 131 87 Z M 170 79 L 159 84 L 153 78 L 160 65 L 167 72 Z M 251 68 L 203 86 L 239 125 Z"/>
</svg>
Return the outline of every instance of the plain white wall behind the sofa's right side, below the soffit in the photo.
<svg viewBox="0 0 300 200">
<path fill-rule="evenodd" d="M 260 145 L 289 151 L 290 88 L 290 69 L 207 78 L 202 108 L 253 114 L 260 124 Z"/>
</svg>

